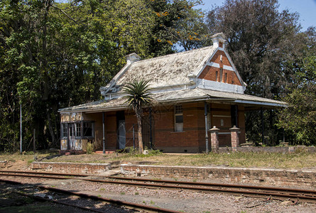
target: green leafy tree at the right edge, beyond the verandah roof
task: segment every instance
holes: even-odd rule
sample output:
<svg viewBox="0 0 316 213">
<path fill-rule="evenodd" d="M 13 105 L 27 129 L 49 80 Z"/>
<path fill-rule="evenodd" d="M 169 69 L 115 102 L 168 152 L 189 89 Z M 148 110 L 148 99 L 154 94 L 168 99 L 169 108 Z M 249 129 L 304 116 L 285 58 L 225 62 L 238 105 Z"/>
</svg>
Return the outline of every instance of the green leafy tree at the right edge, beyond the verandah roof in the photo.
<svg viewBox="0 0 316 213">
<path fill-rule="evenodd" d="M 292 84 L 286 88 L 283 100 L 289 106 L 278 112 L 278 126 L 293 136 L 295 144 L 316 144 L 316 29 L 301 33 L 305 48 L 293 61 Z"/>
</svg>

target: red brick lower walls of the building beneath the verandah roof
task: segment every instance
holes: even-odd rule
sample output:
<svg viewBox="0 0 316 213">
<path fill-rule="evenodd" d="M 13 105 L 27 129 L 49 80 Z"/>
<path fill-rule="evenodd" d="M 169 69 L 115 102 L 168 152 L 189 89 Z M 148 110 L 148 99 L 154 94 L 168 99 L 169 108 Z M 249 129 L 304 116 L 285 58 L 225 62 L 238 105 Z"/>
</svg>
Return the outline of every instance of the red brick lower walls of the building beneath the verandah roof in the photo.
<svg viewBox="0 0 316 213">
<path fill-rule="evenodd" d="M 230 131 L 231 115 L 229 104 L 210 104 L 211 128 L 217 126 L 220 129 L 219 146 L 231 146 Z M 205 109 L 204 102 L 182 104 L 183 131 L 175 132 L 174 105 L 153 107 L 152 129 L 154 147 L 164 152 L 197 153 L 205 151 Z M 116 112 L 105 113 L 106 148 L 116 149 Z M 147 114 L 145 110 L 145 114 Z M 221 117 L 222 116 L 222 117 Z M 102 113 L 89 114 L 89 119 L 94 119 L 96 128 L 96 147 L 102 150 Z M 221 126 L 221 119 L 224 126 Z M 240 143 L 245 141 L 244 107 L 239 106 L 239 134 Z M 133 124 L 135 125 L 136 147 L 137 119 L 133 110 L 125 111 L 126 147 L 133 146 Z M 210 134 L 209 148 L 210 148 Z"/>
</svg>

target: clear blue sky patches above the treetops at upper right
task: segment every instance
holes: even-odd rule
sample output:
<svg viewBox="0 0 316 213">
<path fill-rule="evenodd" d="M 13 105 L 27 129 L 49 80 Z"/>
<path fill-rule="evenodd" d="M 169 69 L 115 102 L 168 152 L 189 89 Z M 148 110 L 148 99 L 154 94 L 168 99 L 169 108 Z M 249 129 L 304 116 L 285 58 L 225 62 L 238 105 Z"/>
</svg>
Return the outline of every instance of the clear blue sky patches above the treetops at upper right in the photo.
<svg viewBox="0 0 316 213">
<path fill-rule="evenodd" d="M 203 0 L 203 10 L 211 10 L 212 6 L 222 6 L 224 0 Z M 316 27 L 316 0 L 278 0 L 279 10 L 288 9 L 291 13 L 300 13 L 299 22 L 302 25 L 302 31 L 308 27 Z"/>
</svg>

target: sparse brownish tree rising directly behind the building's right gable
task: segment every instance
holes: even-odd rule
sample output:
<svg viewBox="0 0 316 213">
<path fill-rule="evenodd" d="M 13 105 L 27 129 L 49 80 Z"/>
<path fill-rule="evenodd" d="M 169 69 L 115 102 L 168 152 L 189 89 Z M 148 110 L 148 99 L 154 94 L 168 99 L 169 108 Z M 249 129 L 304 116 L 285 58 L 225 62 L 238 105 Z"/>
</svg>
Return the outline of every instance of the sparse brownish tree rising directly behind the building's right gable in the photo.
<svg viewBox="0 0 316 213">
<path fill-rule="evenodd" d="M 227 36 L 227 51 L 241 78 L 248 85 L 246 94 L 280 99 L 293 82 L 294 61 L 300 55 L 298 13 L 278 11 L 277 0 L 232 0 L 215 7 L 207 15 L 209 33 Z M 246 112 L 246 132 L 251 141 L 261 137 L 260 111 Z M 275 111 L 264 112 L 266 133 L 275 136 Z"/>
</svg>

